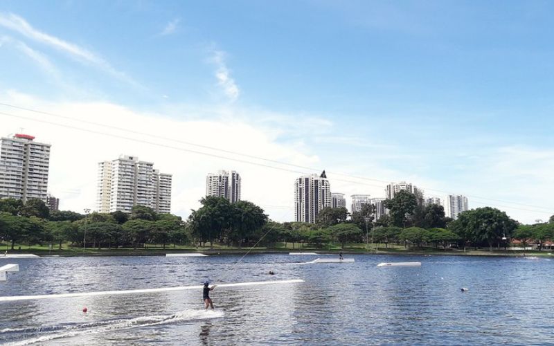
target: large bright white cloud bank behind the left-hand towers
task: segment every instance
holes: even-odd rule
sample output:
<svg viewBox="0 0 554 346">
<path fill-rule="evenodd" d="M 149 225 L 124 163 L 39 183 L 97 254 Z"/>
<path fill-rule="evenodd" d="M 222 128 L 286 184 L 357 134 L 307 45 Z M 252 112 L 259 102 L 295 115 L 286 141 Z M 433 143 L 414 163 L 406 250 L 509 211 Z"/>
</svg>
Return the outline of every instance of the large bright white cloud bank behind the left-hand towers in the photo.
<svg viewBox="0 0 554 346">
<path fill-rule="evenodd" d="M 270 157 L 278 161 L 318 164 L 314 162 L 314 157 L 303 154 L 291 145 L 277 143 L 272 134 L 267 133 L 262 127 L 256 127 L 242 120 L 177 120 L 154 113 L 138 113 L 117 104 L 105 102 L 51 103 L 14 91 L 0 94 L 0 99 L 7 103 L 24 104 L 25 107 L 69 117 L 57 119 L 44 114 L 0 107 L 2 112 L 64 125 L 60 127 L 0 114 L 2 136 L 19 131 L 19 128 L 23 127 L 26 133 L 36 136 L 37 141 L 51 143 L 48 189 L 56 197 L 60 197 L 63 209 L 82 212 L 84 208 L 94 208 L 97 163 L 117 158 L 120 154 L 129 154 L 145 161 L 152 161 L 161 172 L 173 174 L 172 212 L 177 215 L 186 217 L 190 209 L 199 207 L 198 201 L 204 195 L 208 172 L 226 169 L 240 172 L 244 199 L 262 207 L 268 206 L 266 212 L 274 219 L 290 221 L 293 217 L 293 183 L 298 176 L 297 173 L 193 154 L 182 149 L 238 158 L 243 161 L 256 161 L 238 155 L 199 149 L 171 140 L 87 125 L 83 124 L 82 120 L 221 147 L 234 152 Z M 84 128 L 88 132 L 71 127 Z M 90 131 L 100 131 L 113 136 Z M 283 206 L 287 208 L 282 208 Z"/>
</svg>

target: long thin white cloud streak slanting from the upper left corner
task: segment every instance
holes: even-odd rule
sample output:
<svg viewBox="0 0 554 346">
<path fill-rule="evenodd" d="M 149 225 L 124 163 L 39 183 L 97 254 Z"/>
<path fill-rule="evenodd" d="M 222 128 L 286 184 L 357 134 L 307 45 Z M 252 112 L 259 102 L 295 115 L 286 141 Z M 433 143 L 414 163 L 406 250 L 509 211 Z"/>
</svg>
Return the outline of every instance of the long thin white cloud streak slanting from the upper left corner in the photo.
<svg viewBox="0 0 554 346">
<path fill-rule="evenodd" d="M 36 42 L 46 44 L 56 48 L 59 51 L 63 51 L 71 57 L 80 60 L 81 62 L 86 62 L 87 64 L 96 66 L 98 69 L 101 69 L 102 71 L 105 71 L 120 80 L 125 80 L 135 86 L 139 86 L 139 84 L 132 80 L 132 78 L 129 78 L 129 76 L 125 75 L 125 73 L 114 69 L 109 62 L 96 53 L 93 53 L 86 48 L 82 48 L 77 44 L 72 44 L 71 42 L 66 42 L 58 37 L 43 33 L 33 28 L 28 21 L 18 15 L 14 15 L 13 13 L 0 13 L 0 26 L 14 30 L 29 39 L 35 40 Z"/>
</svg>

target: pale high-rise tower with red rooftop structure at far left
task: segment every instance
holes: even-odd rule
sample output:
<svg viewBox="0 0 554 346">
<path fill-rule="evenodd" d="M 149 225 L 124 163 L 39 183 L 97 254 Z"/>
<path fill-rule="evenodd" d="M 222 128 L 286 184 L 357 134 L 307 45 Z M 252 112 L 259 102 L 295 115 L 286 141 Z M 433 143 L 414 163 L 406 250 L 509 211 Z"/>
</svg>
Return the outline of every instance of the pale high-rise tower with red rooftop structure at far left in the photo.
<svg viewBox="0 0 554 346">
<path fill-rule="evenodd" d="M 46 202 L 50 145 L 16 134 L 0 138 L 0 198 Z"/>
</svg>

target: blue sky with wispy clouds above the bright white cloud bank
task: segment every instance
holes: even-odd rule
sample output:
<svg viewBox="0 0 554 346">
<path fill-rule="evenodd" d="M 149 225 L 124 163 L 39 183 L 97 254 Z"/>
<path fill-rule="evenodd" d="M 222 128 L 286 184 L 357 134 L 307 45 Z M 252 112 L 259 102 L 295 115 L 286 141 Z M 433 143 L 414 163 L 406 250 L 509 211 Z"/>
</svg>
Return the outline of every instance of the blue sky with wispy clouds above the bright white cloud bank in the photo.
<svg viewBox="0 0 554 346">
<path fill-rule="evenodd" d="M 3 1 L 0 90 L 4 102 L 25 107 L 27 95 L 50 111 L 107 103 L 244 123 L 299 155 L 283 161 L 551 208 L 552 10 L 549 1 Z M 7 133 L 21 127 L 7 121 Z M 470 205 L 488 203 L 478 201 Z M 552 214 L 518 208 L 503 209 L 522 221 Z"/>
</svg>

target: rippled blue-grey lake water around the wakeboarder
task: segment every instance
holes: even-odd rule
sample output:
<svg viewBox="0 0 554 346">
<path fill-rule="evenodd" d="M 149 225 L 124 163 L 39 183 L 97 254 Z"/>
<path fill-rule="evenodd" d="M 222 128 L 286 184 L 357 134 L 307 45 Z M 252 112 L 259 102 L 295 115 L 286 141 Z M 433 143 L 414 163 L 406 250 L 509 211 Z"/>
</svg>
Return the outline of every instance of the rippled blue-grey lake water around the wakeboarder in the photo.
<svg viewBox="0 0 554 346">
<path fill-rule="evenodd" d="M 43 257 L 0 295 L 305 280 L 202 290 L 0 302 L 0 343 L 29 345 L 554 344 L 554 261 L 510 257 Z M 554 256 L 553 256 L 554 257 Z M 377 268 L 379 262 L 421 267 Z M 237 263 L 238 262 L 238 263 Z M 268 275 L 269 271 L 276 275 Z M 461 292 L 461 287 L 469 291 Z M 87 313 L 82 307 L 87 307 Z"/>
</svg>

